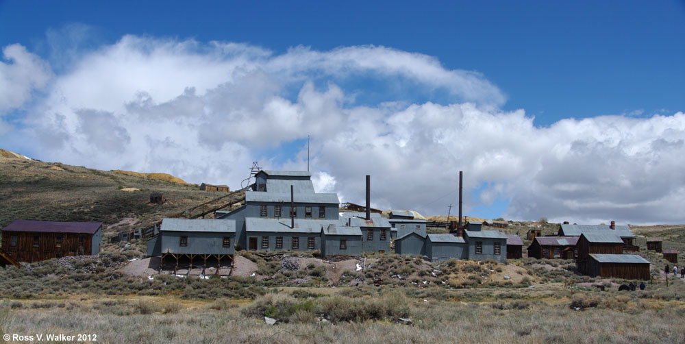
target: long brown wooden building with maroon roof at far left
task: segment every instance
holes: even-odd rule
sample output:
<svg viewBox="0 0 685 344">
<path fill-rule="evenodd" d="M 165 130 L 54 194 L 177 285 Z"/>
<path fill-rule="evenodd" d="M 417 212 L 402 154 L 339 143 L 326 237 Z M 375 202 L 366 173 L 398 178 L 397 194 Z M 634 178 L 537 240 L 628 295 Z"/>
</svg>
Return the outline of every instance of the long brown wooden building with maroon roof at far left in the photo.
<svg viewBox="0 0 685 344">
<path fill-rule="evenodd" d="M 20 262 L 100 253 L 102 223 L 16 220 L 2 230 L 2 249 Z"/>
</svg>

